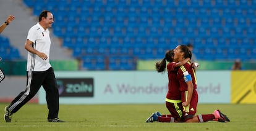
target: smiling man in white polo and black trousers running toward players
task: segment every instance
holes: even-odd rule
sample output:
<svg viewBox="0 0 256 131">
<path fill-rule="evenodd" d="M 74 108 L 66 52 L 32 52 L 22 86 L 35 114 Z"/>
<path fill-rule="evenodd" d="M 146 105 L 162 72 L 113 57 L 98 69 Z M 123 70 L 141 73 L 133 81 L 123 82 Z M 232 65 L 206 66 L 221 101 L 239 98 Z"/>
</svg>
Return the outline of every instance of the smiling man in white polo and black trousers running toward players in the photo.
<svg viewBox="0 0 256 131">
<path fill-rule="evenodd" d="M 41 85 L 46 92 L 46 101 L 49 109 L 48 122 L 64 122 L 58 118 L 59 92 L 53 68 L 49 63 L 49 50 L 51 39 L 49 30 L 53 24 L 53 14 L 43 10 L 39 22 L 28 31 L 25 49 L 28 50 L 27 58 L 27 87 L 25 91 L 12 100 L 4 108 L 4 121 L 11 122 L 12 114 L 19 111 L 40 89 Z"/>
</svg>

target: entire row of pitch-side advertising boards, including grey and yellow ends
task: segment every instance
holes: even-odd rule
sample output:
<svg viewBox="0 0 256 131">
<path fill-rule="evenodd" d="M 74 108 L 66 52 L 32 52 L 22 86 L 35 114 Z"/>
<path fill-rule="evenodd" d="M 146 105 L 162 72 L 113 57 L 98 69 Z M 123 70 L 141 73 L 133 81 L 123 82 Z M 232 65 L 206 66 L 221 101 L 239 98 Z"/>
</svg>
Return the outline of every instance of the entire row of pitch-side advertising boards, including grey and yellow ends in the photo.
<svg viewBox="0 0 256 131">
<path fill-rule="evenodd" d="M 71 83 L 69 92 L 62 90 L 60 95 L 61 103 L 66 104 L 163 103 L 168 82 L 167 74 L 155 71 L 56 71 L 56 77 L 63 90 L 66 82 Z M 255 77 L 253 70 L 197 71 L 198 102 L 255 104 Z M 6 76 L 0 83 L 0 102 L 9 103 L 25 89 L 25 82 L 25 76 Z M 79 85 L 87 92 L 79 93 Z M 38 93 L 40 103 L 45 103 L 44 90 Z M 39 101 L 38 96 L 33 103 Z"/>
</svg>

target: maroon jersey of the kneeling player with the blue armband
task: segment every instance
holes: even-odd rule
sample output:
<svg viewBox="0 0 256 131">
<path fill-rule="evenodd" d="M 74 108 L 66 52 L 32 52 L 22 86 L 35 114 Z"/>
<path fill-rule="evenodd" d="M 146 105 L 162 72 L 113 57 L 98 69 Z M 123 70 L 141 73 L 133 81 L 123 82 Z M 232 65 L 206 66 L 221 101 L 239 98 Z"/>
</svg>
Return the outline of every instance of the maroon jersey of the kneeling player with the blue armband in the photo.
<svg viewBox="0 0 256 131">
<path fill-rule="evenodd" d="M 182 65 L 177 71 L 177 79 L 179 80 L 179 90 L 181 92 L 187 90 L 187 84 L 184 81 L 184 72 L 188 72 L 192 77 L 192 83 L 194 85 L 194 89 L 197 89 L 197 78 L 195 77 L 195 69 L 192 67 L 190 62 L 187 62 L 185 65 Z"/>
</svg>

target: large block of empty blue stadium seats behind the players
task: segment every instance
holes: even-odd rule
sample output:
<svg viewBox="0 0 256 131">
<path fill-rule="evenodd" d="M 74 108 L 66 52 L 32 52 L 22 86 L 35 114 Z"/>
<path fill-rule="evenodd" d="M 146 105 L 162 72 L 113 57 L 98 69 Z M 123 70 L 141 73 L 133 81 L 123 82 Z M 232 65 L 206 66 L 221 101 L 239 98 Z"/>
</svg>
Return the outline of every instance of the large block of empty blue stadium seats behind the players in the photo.
<svg viewBox="0 0 256 131">
<path fill-rule="evenodd" d="M 255 1 L 23 1 L 54 13 L 54 34 L 87 69 L 135 69 L 188 42 L 200 60 L 256 59 Z"/>
</svg>

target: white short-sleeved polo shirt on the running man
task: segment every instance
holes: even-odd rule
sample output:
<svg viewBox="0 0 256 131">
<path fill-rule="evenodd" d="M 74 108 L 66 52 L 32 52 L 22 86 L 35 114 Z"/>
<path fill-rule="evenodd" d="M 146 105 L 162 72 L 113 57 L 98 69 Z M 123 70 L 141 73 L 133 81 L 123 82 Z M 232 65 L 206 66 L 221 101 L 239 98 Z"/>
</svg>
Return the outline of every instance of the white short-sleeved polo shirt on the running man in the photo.
<svg viewBox="0 0 256 131">
<path fill-rule="evenodd" d="M 38 55 L 28 52 L 27 71 L 46 71 L 51 67 L 49 63 L 49 50 L 51 47 L 49 30 L 44 30 L 43 27 L 37 23 L 28 31 L 27 39 L 33 42 L 33 49 L 45 53 L 48 57 L 47 60 L 43 60 L 38 57 Z"/>
</svg>

